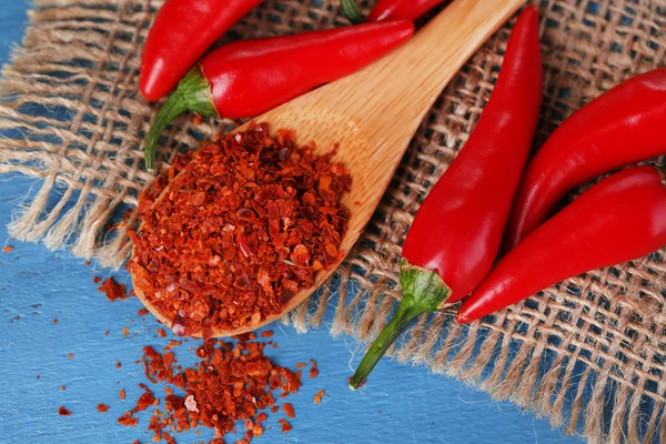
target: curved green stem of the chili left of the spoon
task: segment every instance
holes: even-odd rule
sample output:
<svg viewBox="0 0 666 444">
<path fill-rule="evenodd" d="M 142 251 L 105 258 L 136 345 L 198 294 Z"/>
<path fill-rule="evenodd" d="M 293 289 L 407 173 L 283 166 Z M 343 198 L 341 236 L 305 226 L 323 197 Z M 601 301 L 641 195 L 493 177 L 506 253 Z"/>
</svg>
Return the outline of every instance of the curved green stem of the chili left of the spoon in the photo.
<svg viewBox="0 0 666 444">
<path fill-rule="evenodd" d="M 199 68 L 192 68 L 178 84 L 167 103 L 158 111 L 155 119 L 145 135 L 144 163 L 149 172 L 153 171 L 155 148 L 160 135 L 169 123 L 185 111 L 194 111 L 205 117 L 215 117 L 215 103 L 211 93 L 211 84 Z"/>
</svg>

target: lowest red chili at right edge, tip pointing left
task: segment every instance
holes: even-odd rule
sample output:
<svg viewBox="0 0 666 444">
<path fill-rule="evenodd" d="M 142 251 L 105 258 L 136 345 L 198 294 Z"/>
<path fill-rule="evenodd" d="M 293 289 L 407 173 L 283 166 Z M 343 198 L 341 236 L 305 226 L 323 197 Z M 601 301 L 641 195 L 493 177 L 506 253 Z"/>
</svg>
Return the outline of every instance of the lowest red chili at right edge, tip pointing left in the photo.
<svg viewBox="0 0 666 444">
<path fill-rule="evenodd" d="M 509 251 L 456 320 L 472 322 L 562 280 L 666 245 L 665 180 L 663 169 L 636 167 L 591 188 Z"/>
</svg>

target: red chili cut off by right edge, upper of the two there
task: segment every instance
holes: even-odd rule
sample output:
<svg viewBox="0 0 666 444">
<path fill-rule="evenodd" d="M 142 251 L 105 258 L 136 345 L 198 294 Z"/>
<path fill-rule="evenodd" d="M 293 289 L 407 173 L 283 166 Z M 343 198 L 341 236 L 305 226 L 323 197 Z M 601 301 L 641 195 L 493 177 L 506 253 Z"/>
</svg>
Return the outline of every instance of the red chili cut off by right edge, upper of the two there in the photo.
<svg viewBox="0 0 666 444">
<path fill-rule="evenodd" d="M 567 119 L 527 164 L 503 250 L 534 231 L 567 191 L 666 154 L 666 68 L 637 75 Z"/>
</svg>

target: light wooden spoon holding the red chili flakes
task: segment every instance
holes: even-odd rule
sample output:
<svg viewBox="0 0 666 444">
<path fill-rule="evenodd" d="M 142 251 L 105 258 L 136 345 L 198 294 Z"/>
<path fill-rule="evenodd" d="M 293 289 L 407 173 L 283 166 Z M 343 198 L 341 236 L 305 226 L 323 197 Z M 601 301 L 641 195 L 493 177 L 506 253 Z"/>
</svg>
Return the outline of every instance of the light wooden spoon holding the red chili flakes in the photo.
<svg viewBox="0 0 666 444">
<path fill-rule="evenodd" d="M 340 245 L 344 254 L 375 211 L 410 141 L 444 87 L 524 2 L 456 0 L 382 60 L 255 119 L 270 122 L 273 130 L 294 130 L 300 144 L 314 141 L 317 147 L 333 148 L 340 143 L 335 161 L 349 170 L 353 180 L 351 192 L 343 198 L 351 211 Z M 236 129 L 243 130 L 245 125 Z M 235 331 L 215 331 L 215 336 L 245 333 L 275 321 L 307 300 L 333 271 L 320 272 L 315 284 L 296 293 L 282 313 Z M 145 297 L 134 275 L 132 281 L 143 305 L 171 325 L 172 320 Z"/>
</svg>

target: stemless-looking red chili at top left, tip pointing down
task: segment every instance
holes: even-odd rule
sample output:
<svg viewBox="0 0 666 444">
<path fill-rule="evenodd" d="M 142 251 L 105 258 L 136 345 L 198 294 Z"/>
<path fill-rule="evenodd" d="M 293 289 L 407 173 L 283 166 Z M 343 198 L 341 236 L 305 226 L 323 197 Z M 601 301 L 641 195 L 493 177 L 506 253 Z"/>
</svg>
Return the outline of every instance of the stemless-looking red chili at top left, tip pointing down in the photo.
<svg viewBox="0 0 666 444">
<path fill-rule="evenodd" d="M 168 0 L 152 24 L 141 59 L 140 88 L 167 95 L 203 53 L 263 0 Z"/>
</svg>

